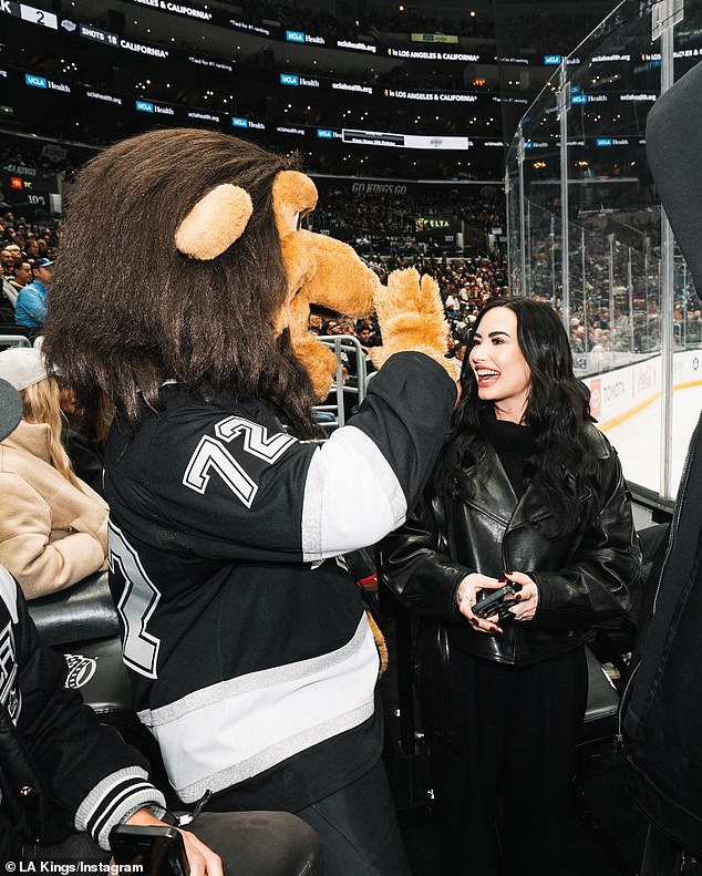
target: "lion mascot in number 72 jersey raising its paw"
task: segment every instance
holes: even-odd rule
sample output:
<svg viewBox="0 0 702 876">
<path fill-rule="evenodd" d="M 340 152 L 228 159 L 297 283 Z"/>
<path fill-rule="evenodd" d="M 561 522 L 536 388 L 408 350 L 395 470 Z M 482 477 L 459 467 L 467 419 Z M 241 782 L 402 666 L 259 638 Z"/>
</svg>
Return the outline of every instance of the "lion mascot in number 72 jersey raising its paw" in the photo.
<svg viewBox="0 0 702 876">
<path fill-rule="evenodd" d="M 328 876 L 407 873 L 381 762 L 379 657 L 343 554 L 403 523 L 456 400 L 433 280 L 382 287 L 300 228 L 312 181 L 235 137 L 155 131 L 70 195 L 44 351 L 105 456 L 110 581 L 141 721 L 185 804 L 287 810 Z M 311 305 L 378 312 L 351 424 L 313 420 L 335 370 Z"/>
</svg>

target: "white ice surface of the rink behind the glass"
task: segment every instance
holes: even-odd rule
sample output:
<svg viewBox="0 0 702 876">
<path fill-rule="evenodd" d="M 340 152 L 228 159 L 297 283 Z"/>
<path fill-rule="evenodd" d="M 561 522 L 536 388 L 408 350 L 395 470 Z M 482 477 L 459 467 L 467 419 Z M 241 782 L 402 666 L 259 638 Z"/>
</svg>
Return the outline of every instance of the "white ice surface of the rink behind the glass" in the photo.
<svg viewBox="0 0 702 876">
<path fill-rule="evenodd" d="M 672 495 L 680 483 L 690 437 L 702 411 L 702 387 L 673 392 Z M 638 414 L 606 430 L 617 449 L 624 477 L 633 484 L 661 492 L 661 402 L 649 404 Z"/>
</svg>

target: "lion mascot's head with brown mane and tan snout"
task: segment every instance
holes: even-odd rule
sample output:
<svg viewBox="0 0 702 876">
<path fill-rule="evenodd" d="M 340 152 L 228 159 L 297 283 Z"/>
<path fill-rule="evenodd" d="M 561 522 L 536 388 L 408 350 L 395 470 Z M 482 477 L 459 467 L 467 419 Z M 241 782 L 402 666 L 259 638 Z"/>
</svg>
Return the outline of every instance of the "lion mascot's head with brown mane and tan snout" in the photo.
<svg viewBox="0 0 702 876">
<path fill-rule="evenodd" d="M 312 303 L 362 316 L 379 281 L 353 250 L 300 230 L 317 190 L 295 158 L 226 134 L 154 131 L 90 162 L 69 196 L 44 351 L 92 408 L 134 423 L 174 379 L 257 396 L 300 437 L 333 354 Z"/>
</svg>

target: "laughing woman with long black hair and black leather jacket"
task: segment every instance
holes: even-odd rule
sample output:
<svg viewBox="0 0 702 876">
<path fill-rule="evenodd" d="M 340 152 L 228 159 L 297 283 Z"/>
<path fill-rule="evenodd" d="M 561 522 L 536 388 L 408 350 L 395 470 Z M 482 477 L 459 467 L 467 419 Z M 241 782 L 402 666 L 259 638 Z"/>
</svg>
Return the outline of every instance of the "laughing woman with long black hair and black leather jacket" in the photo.
<svg viewBox="0 0 702 876">
<path fill-rule="evenodd" d="M 441 872 L 558 876 L 584 642 L 627 610 L 640 553 L 619 460 L 550 307 L 483 308 L 461 388 L 424 498 L 380 552 L 422 619 Z"/>
</svg>

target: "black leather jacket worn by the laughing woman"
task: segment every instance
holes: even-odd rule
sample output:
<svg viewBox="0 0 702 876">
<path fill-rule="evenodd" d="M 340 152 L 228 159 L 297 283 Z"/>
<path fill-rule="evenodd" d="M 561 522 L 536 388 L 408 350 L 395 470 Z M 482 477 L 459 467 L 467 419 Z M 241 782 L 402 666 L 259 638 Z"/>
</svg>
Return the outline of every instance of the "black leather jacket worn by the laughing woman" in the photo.
<svg viewBox="0 0 702 876">
<path fill-rule="evenodd" d="M 585 640 L 591 627 L 623 614 L 638 579 L 641 555 L 621 465 L 595 426 L 588 440 L 597 457 L 596 514 L 564 537 L 549 538 L 556 521 L 527 486 L 517 501 L 492 447 L 468 472 L 469 499 L 421 501 L 405 525 L 379 548 L 383 580 L 400 601 L 424 618 L 440 645 L 444 633 L 463 650 L 504 663 L 536 663 Z M 445 505 L 445 507 L 442 507 Z M 442 519 L 443 517 L 443 519 Z M 500 578 L 524 571 L 539 590 L 533 621 L 504 625 L 504 635 L 473 630 L 456 607 L 456 590 L 471 571 Z"/>
</svg>

